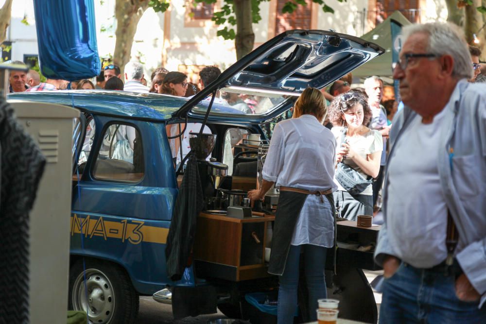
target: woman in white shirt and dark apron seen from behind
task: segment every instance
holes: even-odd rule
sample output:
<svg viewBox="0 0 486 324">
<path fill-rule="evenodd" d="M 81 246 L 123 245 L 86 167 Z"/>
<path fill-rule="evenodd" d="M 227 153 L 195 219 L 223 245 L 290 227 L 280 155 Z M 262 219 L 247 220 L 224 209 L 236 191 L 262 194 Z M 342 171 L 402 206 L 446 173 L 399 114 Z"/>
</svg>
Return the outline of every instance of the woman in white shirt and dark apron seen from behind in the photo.
<svg viewBox="0 0 486 324">
<path fill-rule="evenodd" d="M 254 202 L 263 199 L 272 185 L 280 189 L 268 267 L 269 273 L 279 276 L 279 324 L 293 323 L 301 250 L 309 290 L 307 315 L 316 320 L 317 299 L 326 298 L 326 251 L 334 245 L 336 140 L 322 125 L 326 103 L 318 89 L 308 88 L 294 108 L 292 119 L 275 126 L 261 188 L 248 192 Z"/>
</svg>

